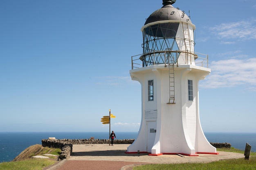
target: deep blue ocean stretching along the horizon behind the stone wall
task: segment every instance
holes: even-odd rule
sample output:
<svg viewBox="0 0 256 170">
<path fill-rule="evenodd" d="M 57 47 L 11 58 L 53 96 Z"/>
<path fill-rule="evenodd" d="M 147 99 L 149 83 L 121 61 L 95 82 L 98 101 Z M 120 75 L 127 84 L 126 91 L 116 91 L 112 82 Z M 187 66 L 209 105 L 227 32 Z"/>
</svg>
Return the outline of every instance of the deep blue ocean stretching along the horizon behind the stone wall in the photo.
<svg viewBox="0 0 256 170">
<path fill-rule="evenodd" d="M 116 139 L 136 139 L 137 132 L 116 132 Z M 204 133 L 209 142 L 230 143 L 232 147 L 245 150 L 246 143 L 256 152 L 256 133 Z M 12 161 L 25 148 L 42 144 L 42 139 L 108 139 L 109 132 L 0 132 L 0 162 Z"/>
</svg>

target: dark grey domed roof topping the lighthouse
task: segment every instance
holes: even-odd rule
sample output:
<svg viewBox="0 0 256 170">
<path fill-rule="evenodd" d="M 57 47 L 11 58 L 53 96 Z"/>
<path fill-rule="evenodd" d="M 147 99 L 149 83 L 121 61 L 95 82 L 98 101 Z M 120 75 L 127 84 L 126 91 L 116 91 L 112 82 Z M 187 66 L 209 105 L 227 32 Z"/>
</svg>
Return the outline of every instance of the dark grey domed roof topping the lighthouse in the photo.
<svg viewBox="0 0 256 170">
<path fill-rule="evenodd" d="M 180 9 L 176 9 L 172 6 L 172 4 L 176 0 L 163 0 L 163 7 L 158 9 L 157 11 L 153 12 L 148 19 L 146 20 L 145 24 L 157 22 L 157 21 L 166 21 L 166 20 L 175 20 L 175 21 L 184 21 L 184 22 L 191 22 L 188 15 L 181 11 Z"/>
</svg>

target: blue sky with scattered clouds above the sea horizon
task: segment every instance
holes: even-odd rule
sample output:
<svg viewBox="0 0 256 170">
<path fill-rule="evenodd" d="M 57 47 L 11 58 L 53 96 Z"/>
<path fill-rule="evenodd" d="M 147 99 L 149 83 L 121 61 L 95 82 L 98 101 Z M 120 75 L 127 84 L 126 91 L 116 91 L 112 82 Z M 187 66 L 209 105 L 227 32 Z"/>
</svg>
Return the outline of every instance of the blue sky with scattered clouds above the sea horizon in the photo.
<svg viewBox="0 0 256 170">
<path fill-rule="evenodd" d="M 200 81 L 204 132 L 256 132 L 256 1 L 177 0 L 209 55 Z M 131 56 L 162 0 L 1 0 L 0 131 L 139 131 Z"/>
</svg>

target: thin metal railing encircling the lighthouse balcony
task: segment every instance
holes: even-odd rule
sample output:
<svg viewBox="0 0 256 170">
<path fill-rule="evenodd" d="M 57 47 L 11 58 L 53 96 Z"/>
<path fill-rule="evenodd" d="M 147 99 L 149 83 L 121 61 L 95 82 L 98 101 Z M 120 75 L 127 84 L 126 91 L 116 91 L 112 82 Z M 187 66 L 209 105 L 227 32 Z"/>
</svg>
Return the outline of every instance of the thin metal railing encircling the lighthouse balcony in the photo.
<svg viewBox="0 0 256 170">
<path fill-rule="evenodd" d="M 153 51 L 145 54 L 138 54 L 132 56 L 132 69 L 142 68 L 150 65 L 159 65 L 159 64 L 179 64 L 179 56 L 186 56 L 186 64 L 192 64 L 194 59 L 195 65 L 208 68 L 208 55 L 198 52 L 188 52 L 180 50 L 170 50 L 170 51 Z M 193 59 L 192 59 L 193 57 Z"/>
</svg>

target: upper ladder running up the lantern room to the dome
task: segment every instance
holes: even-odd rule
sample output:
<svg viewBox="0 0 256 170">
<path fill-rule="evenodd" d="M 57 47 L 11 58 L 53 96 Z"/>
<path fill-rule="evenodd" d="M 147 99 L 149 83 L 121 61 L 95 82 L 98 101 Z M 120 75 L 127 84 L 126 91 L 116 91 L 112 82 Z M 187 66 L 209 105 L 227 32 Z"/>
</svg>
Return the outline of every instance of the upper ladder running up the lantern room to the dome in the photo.
<svg viewBox="0 0 256 170">
<path fill-rule="evenodd" d="M 189 35 L 189 26 L 187 23 L 182 22 L 182 28 L 183 28 L 184 43 L 185 43 L 185 49 L 186 49 L 186 64 L 189 64 L 189 60 L 191 64 L 191 41 L 190 41 L 190 35 Z"/>
</svg>

